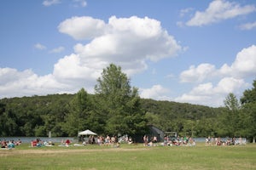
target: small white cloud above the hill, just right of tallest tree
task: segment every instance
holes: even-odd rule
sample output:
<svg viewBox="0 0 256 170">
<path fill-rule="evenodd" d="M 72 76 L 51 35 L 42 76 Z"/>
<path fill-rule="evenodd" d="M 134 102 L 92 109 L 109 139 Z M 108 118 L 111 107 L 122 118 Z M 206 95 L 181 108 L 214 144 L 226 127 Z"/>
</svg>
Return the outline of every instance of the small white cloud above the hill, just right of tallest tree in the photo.
<svg viewBox="0 0 256 170">
<path fill-rule="evenodd" d="M 140 97 L 143 99 L 170 100 L 170 97 L 167 97 L 168 93 L 169 89 L 159 84 L 152 88 L 140 88 Z"/>
</svg>

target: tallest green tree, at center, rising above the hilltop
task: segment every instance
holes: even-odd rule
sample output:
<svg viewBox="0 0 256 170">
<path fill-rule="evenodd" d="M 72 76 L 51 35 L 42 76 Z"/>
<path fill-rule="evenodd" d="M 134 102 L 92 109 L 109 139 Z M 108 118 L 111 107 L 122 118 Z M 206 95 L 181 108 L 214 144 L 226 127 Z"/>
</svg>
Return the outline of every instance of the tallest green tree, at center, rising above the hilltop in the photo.
<svg viewBox="0 0 256 170">
<path fill-rule="evenodd" d="M 106 116 L 106 132 L 131 136 L 145 133 L 147 122 L 137 88 L 131 88 L 121 67 L 110 64 L 97 82 L 95 91 Z"/>
</svg>

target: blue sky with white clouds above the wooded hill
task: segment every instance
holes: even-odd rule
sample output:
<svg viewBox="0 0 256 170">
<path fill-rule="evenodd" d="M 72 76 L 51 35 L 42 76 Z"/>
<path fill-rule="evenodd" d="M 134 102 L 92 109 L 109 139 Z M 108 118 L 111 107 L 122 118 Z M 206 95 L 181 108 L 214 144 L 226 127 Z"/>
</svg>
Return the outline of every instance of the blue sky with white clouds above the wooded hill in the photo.
<svg viewBox="0 0 256 170">
<path fill-rule="evenodd" d="M 254 0 L 3 0 L 0 99 L 94 94 L 111 63 L 143 99 L 219 107 L 256 80 Z"/>
</svg>

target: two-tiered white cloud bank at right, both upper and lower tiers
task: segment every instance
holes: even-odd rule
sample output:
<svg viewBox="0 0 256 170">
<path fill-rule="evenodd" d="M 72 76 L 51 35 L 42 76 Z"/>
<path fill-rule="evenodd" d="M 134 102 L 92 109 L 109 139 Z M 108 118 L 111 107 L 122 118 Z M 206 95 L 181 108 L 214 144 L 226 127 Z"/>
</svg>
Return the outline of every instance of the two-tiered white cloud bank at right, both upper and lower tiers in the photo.
<svg viewBox="0 0 256 170">
<path fill-rule="evenodd" d="M 236 59 L 231 65 L 224 64 L 219 69 L 214 65 L 192 65 L 189 70 L 180 74 L 181 82 L 199 83 L 189 93 L 177 97 L 178 102 L 193 104 L 222 105 L 225 96 L 230 93 L 241 95 L 249 84 L 245 82 L 247 77 L 256 75 L 256 46 L 243 48 L 236 54 Z M 207 80 L 219 79 L 216 85 Z"/>
</svg>

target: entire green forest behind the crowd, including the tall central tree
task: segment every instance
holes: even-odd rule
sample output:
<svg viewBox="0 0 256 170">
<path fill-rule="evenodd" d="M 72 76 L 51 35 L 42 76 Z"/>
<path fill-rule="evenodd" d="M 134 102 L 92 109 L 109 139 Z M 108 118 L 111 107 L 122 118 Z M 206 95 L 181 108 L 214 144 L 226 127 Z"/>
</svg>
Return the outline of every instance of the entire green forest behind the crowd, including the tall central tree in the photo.
<svg viewBox="0 0 256 170">
<path fill-rule="evenodd" d="M 0 136 L 75 137 L 89 128 L 98 134 L 143 135 L 148 125 L 191 137 L 243 137 L 250 141 L 256 128 L 256 80 L 241 99 L 229 94 L 224 107 L 213 108 L 172 101 L 141 99 L 138 89 L 116 65 L 97 79 L 95 94 L 0 99 Z"/>
</svg>

